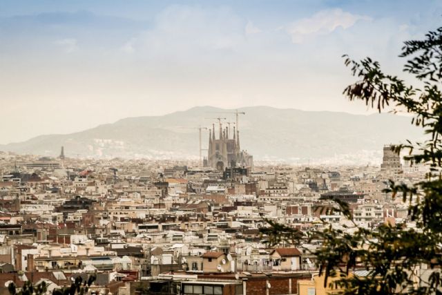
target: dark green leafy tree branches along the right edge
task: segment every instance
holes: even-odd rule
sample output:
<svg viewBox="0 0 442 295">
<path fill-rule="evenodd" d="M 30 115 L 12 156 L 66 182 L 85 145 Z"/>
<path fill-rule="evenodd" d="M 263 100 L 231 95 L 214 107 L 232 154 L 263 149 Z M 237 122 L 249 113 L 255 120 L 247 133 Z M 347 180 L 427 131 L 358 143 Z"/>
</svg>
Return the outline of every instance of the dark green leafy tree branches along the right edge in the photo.
<svg viewBox="0 0 442 295">
<path fill-rule="evenodd" d="M 409 113 L 412 124 L 423 129 L 423 142 L 407 140 L 393 149 L 396 153 L 406 151 L 405 160 L 428 165 L 430 172 L 412 186 L 390 180 L 390 188 L 385 190 L 392 198 L 407 202 L 407 221 L 416 222 L 416 227 L 407 228 L 404 223 L 365 229 L 354 222 L 348 204 L 336 200 L 332 211 L 352 222 L 352 234 L 327 222 L 322 230 L 308 233 L 293 232 L 274 222 L 261 230 L 271 245 L 287 240 L 287 235 L 298 239 L 295 245 L 320 240 L 321 247 L 313 251 L 320 275 L 325 276 L 325 285 L 340 294 L 442 294 L 442 28 L 428 32 L 423 40 L 405 41 L 399 56 L 408 58 L 403 70 L 413 75 L 421 88 L 383 73 L 379 63 L 369 57 L 354 61 L 344 55 L 345 65 L 357 78 L 345 88 L 344 95 L 350 101 L 363 100 L 379 112 Z M 429 267 L 425 276 L 420 271 L 423 265 Z M 349 275 L 356 269 L 365 269 L 367 274 Z"/>
</svg>

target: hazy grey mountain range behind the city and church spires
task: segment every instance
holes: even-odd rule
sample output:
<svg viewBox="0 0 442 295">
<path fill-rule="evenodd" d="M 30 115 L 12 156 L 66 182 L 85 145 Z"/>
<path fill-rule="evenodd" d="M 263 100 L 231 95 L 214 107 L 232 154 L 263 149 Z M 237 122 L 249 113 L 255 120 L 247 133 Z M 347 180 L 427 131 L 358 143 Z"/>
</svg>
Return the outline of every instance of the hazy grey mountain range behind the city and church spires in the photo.
<svg viewBox="0 0 442 295">
<path fill-rule="evenodd" d="M 162 116 L 128 117 L 77 133 L 40 135 L 26 142 L 3 144 L 0 151 L 57 156 L 64 146 L 68 157 L 197 158 L 198 126 L 211 127 L 218 122 L 215 117 L 235 122 L 234 111 L 200 106 Z M 389 113 L 353 115 L 268 106 L 238 111 L 245 113 L 239 121 L 241 148 L 256 160 L 349 158 L 364 162 L 365 155 L 379 158 L 384 144 L 416 140 L 423 134 L 410 124 L 410 117 Z M 218 137 L 218 123 L 215 131 Z M 208 135 L 203 130 L 203 149 Z"/>
</svg>

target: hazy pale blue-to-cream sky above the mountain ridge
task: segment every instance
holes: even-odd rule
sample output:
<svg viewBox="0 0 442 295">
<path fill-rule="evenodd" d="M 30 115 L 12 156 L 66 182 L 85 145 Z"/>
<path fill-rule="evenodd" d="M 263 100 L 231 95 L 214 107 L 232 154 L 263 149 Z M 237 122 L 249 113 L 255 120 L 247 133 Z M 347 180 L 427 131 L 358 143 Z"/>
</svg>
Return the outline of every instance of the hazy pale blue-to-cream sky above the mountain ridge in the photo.
<svg viewBox="0 0 442 295">
<path fill-rule="evenodd" d="M 0 1 L 0 143 L 193 106 L 364 113 L 341 55 L 402 75 L 442 1 Z"/>
</svg>

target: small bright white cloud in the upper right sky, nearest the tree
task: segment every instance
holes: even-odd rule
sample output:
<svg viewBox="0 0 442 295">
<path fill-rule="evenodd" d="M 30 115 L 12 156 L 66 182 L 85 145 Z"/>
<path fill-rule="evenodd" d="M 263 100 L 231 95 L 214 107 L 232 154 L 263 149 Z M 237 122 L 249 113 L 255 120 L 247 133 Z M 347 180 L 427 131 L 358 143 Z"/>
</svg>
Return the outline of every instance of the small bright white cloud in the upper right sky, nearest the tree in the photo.
<svg viewBox="0 0 442 295">
<path fill-rule="evenodd" d="M 311 17 L 292 23 L 286 30 L 291 35 L 291 41 L 299 44 L 308 37 L 329 34 L 339 27 L 350 28 L 359 20 L 369 21 L 371 18 L 365 15 L 352 15 L 339 8 L 321 10 Z"/>
</svg>

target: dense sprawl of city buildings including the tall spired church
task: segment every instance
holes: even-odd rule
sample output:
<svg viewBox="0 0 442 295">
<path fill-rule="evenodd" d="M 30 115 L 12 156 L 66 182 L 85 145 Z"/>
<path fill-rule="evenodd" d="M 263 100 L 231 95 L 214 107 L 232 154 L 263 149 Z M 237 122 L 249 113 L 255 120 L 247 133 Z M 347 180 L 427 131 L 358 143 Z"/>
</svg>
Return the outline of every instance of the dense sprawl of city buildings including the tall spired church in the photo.
<svg viewBox="0 0 442 295">
<path fill-rule="evenodd" d="M 218 131 L 202 162 L 1 153 L 0 285 L 56 289 L 96 274 L 100 294 L 325 294 L 312 254 L 320 240 L 270 247 L 260 228 L 351 233 L 345 216 L 318 209 L 336 199 L 360 227 L 410 221 L 383 190 L 427 172 L 390 145 L 378 166 L 253 166 L 239 133 Z"/>
</svg>

